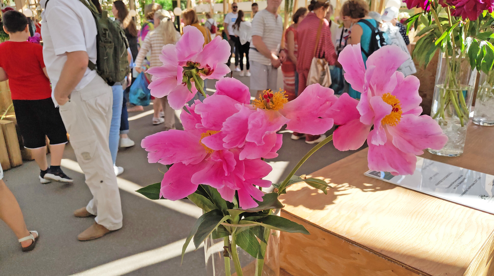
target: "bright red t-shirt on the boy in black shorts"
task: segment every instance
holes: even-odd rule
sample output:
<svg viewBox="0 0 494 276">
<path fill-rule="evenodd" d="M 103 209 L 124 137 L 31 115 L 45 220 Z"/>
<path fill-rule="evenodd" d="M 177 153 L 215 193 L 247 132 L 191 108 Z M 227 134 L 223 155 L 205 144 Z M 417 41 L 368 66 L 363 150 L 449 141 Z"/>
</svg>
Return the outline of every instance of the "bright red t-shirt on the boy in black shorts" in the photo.
<svg viewBox="0 0 494 276">
<path fill-rule="evenodd" d="M 43 72 L 43 46 L 5 41 L 0 43 L 0 53 L 0 67 L 7 73 L 12 100 L 51 97 L 50 81 Z"/>
</svg>

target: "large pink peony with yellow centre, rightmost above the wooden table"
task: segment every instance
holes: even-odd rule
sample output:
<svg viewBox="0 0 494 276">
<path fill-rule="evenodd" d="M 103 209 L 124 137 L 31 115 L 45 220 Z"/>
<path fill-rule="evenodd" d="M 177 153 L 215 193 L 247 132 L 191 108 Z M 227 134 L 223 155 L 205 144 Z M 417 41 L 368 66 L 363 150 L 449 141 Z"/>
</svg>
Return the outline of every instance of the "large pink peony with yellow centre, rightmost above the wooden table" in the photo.
<svg viewBox="0 0 494 276">
<path fill-rule="evenodd" d="M 367 139 L 369 169 L 395 175 L 412 174 L 415 155 L 425 148 L 441 149 L 448 141 L 434 119 L 419 116 L 419 80 L 396 71 L 406 59 L 398 46 L 388 45 L 371 54 L 366 69 L 360 44 L 345 47 L 338 61 L 362 98 L 343 94 L 327 113 L 340 125 L 333 134 L 334 147 L 356 150 Z"/>
</svg>

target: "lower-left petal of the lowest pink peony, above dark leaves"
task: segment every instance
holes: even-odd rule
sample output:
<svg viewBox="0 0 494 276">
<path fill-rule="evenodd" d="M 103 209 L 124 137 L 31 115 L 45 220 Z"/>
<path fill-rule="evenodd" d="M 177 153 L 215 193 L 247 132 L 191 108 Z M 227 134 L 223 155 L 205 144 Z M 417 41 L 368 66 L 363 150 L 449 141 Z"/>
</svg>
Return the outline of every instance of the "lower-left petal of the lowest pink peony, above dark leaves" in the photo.
<svg viewBox="0 0 494 276">
<path fill-rule="evenodd" d="M 175 201 L 194 193 L 198 185 L 192 183 L 190 179 L 205 165 L 206 162 L 197 165 L 173 164 L 161 181 L 160 198 L 163 196 L 165 199 Z"/>
</svg>

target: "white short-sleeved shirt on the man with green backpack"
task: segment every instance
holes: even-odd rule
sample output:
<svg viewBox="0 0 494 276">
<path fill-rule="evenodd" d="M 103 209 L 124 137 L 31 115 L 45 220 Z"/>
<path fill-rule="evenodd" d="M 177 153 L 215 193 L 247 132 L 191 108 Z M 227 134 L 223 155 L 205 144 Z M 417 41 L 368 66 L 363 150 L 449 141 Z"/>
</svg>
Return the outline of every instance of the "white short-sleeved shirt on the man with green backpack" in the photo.
<svg viewBox="0 0 494 276">
<path fill-rule="evenodd" d="M 45 7 L 46 0 L 41 0 Z M 80 0 L 49 0 L 41 12 L 41 36 L 43 37 L 43 60 L 51 81 L 51 98 L 55 106 L 54 90 L 67 54 L 85 51 L 89 60 L 96 64 L 96 22 L 91 11 Z M 95 76 L 95 70 L 86 69 L 75 90 L 84 88 Z"/>
</svg>

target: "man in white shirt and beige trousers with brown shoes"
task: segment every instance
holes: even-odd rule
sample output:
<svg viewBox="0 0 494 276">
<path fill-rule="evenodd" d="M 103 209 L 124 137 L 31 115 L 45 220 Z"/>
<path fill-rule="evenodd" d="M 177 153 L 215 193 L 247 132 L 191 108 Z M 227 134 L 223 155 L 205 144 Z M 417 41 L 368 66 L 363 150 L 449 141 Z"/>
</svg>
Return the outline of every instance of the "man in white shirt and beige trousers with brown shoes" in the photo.
<svg viewBox="0 0 494 276">
<path fill-rule="evenodd" d="M 88 3 L 91 3 L 90 1 Z M 100 238 L 122 228 L 122 206 L 108 145 L 112 88 L 87 67 L 96 64 L 96 23 L 80 0 L 41 0 L 43 59 L 52 84 L 52 99 L 70 134 L 85 182 L 93 195 L 77 217 L 95 215 L 78 239 Z M 91 3 L 92 4 L 92 3 Z"/>
</svg>

